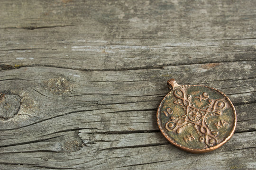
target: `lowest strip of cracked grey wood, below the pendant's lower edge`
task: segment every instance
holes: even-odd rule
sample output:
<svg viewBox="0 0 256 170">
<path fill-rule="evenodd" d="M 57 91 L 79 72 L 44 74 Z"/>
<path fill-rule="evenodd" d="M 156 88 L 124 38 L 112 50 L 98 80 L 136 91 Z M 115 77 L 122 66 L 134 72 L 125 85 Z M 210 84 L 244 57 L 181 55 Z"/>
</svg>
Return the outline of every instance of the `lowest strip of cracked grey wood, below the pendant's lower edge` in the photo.
<svg viewBox="0 0 256 170">
<path fill-rule="evenodd" d="M 27 169 L 156 169 L 191 168 L 253 169 L 255 167 L 255 132 L 235 134 L 227 144 L 212 153 L 181 152 L 158 133 L 102 135 L 81 130 L 85 147 L 75 153 L 24 152 L 2 154 L 0 160 Z M 89 142 L 89 140 L 90 142 Z M 136 141 L 136 142 L 135 142 Z M 89 144 L 90 143 L 90 144 Z M 15 157 L 15 160 L 7 160 Z M 30 159 L 25 159 L 29 157 Z M 81 159 L 83 157 L 84 159 Z M 245 157 L 248 161 L 245 161 Z M 18 163 L 22 162 L 20 165 Z M 42 164 L 43 162 L 43 164 Z M 194 163 L 196 162 L 196 163 Z M 41 166 L 38 166 L 41 164 Z M 177 166 L 178 165 L 178 166 Z"/>
</svg>

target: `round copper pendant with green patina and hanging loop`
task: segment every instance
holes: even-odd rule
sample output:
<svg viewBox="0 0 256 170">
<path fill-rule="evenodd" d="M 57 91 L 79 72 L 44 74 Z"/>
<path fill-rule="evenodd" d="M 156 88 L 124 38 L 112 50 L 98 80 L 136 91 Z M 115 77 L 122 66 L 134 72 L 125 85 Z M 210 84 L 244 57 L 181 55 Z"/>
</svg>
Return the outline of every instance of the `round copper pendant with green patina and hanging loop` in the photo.
<svg viewBox="0 0 256 170">
<path fill-rule="evenodd" d="M 202 85 L 178 85 L 167 81 L 170 92 L 157 110 L 157 124 L 175 146 L 191 153 L 219 148 L 234 134 L 237 116 L 229 98 Z"/>
</svg>

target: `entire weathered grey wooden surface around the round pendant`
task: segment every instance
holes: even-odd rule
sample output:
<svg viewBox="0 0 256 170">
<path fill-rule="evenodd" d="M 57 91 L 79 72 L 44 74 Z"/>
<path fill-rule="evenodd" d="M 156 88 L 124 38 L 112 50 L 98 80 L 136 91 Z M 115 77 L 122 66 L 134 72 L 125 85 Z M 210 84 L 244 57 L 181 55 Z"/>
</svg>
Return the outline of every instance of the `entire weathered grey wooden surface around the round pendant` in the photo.
<svg viewBox="0 0 256 170">
<path fill-rule="evenodd" d="M 0 169 L 255 169 L 255 49 L 255 0 L 1 0 Z M 161 135 L 170 78 L 234 103 L 221 148 Z"/>
</svg>

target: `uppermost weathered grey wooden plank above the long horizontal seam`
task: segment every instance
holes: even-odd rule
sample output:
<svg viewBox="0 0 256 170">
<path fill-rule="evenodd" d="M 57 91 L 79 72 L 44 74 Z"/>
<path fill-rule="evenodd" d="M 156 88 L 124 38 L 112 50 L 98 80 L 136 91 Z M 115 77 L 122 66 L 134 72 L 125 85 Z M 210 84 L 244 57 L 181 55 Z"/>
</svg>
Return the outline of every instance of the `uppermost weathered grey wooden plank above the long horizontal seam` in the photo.
<svg viewBox="0 0 256 170">
<path fill-rule="evenodd" d="M 124 70 L 255 60 L 254 7 L 255 0 L 2 0 L 0 63 Z"/>
</svg>

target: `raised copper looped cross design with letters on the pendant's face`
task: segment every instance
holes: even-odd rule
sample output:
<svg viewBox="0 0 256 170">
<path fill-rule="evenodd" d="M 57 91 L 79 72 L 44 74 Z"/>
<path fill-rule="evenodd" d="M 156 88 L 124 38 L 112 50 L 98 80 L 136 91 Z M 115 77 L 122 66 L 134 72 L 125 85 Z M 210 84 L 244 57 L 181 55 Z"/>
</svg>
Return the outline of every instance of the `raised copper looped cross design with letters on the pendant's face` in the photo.
<svg viewBox="0 0 256 170">
<path fill-rule="evenodd" d="M 194 98 L 198 98 L 200 101 L 207 100 L 208 103 L 201 107 L 197 108 L 192 102 L 192 95 L 187 95 L 183 88 L 178 88 L 174 90 L 174 96 L 177 98 L 174 100 L 174 104 L 180 105 L 184 110 L 185 114 L 180 115 L 177 118 L 172 116 L 169 121 L 166 122 L 165 128 L 168 131 L 173 131 L 174 133 L 181 134 L 185 127 L 189 125 L 193 125 L 197 133 L 200 135 L 199 141 L 204 142 L 208 147 L 217 144 L 216 137 L 219 132 L 212 131 L 210 127 L 208 127 L 207 119 L 212 116 L 220 116 L 222 114 L 223 109 L 226 107 L 226 103 L 221 99 L 209 99 L 209 94 L 203 92 L 199 96 L 195 96 Z M 168 108 L 169 109 L 169 108 Z M 167 112 L 166 112 L 167 111 Z M 168 116 L 168 110 L 164 111 L 165 116 Z M 170 113 L 169 113 L 170 114 Z M 173 114 L 173 111 L 171 112 Z M 228 124 L 226 121 L 221 120 L 215 123 L 215 126 L 219 129 L 223 127 L 225 124 Z M 183 137 L 185 142 L 192 141 L 194 136 L 192 134 Z"/>
</svg>

